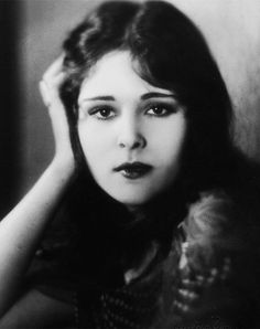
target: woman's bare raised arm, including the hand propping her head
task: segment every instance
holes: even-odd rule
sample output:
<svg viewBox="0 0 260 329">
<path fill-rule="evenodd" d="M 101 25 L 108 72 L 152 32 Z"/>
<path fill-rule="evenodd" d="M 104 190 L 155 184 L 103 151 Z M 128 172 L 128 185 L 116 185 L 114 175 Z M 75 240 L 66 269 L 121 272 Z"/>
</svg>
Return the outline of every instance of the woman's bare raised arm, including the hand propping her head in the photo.
<svg viewBox="0 0 260 329">
<path fill-rule="evenodd" d="M 57 59 L 40 83 L 52 120 L 55 156 L 31 191 L 0 222 L 0 318 L 13 303 L 44 229 L 75 172 L 67 119 L 58 94 L 65 78 L 62 61 Z"/>
</svg>

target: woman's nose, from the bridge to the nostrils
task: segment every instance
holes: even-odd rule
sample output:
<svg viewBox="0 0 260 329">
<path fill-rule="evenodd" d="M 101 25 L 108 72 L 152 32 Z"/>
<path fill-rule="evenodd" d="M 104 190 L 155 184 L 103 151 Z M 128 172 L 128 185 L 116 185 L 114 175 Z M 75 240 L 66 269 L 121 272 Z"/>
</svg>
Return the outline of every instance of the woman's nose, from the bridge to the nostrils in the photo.
<svg viewBox="0 0 260 329">
<path fill-rule="evenodd" d="M 141 130 L 138 119 L 124 118 L 120 123 L 118 146 L 130 150 L 144 148 L 147 146 L 147 139 Z"/>
</svg>

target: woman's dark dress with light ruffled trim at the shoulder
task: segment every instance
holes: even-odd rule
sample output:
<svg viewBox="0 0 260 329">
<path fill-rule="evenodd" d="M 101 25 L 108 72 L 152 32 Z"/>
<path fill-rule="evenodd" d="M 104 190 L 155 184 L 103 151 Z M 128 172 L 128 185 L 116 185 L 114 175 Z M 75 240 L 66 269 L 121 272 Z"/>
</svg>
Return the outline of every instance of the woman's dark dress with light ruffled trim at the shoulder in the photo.
<svg viewBox="0 0 260 329">
<path fill-rule="evenodd" d="M 181 222 L 95 219 L 84 234 L 63 219 L 0 328 L 259 328 L 257 212 L 236 202 L 210 191 Z"/>
</svg>

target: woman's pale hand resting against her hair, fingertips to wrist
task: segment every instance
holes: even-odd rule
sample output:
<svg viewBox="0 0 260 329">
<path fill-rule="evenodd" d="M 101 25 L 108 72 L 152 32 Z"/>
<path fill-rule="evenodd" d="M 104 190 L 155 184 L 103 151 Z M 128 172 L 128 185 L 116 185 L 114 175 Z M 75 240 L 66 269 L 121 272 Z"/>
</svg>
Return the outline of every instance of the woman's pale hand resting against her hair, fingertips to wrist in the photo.
<svg viewBox="0 0 260 329">
<path fill-rule="evenodd" d="M 40 82 L 40 93 L 44 105 L 48 109 L 55 140 L 56 163 L 68 169 L 75 169 L 68 121 L 64 105 L 59 97 L 59 88 L 66 75 L 63 72 L 63 55 L 55 60 L 46 70 Z"/>
</svg>

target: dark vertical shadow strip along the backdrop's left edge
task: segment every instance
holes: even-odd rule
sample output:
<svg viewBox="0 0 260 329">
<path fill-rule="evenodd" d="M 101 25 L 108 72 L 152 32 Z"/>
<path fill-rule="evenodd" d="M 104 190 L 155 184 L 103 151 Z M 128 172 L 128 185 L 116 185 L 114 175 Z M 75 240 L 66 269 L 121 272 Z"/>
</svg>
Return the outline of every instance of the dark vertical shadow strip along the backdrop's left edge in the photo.
<svg viewBox="0 0 260 329">
<path fill-rule="evenodd" d="M 18 38 L 20 1 L 0 1 L 0 217 L 13 205 L 20 179 Z"/>
</svg>

